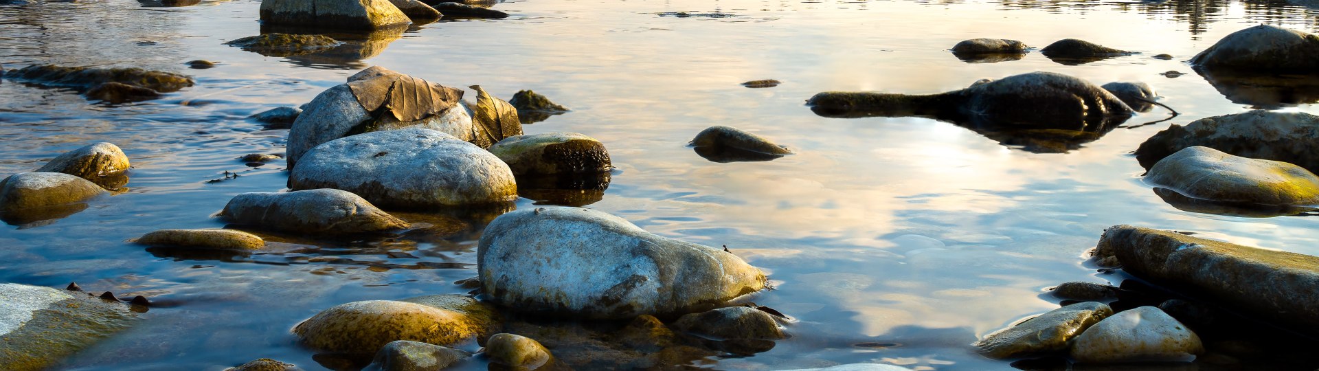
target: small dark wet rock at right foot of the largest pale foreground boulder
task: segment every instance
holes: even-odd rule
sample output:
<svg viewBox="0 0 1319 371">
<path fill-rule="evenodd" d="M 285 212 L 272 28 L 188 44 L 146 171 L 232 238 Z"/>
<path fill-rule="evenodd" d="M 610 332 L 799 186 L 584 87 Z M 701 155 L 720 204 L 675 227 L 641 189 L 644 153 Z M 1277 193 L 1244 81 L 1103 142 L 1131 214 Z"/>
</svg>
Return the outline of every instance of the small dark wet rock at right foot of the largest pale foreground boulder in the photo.
<svg viewBox="0 0 1319 371">
<path fill-rule="evenodd" d="M 686 314 L 673 322 L 673 327 L 715 339 L 787 338 L 774 316 L 749 306 L 729 306 Z"/>
</svg>

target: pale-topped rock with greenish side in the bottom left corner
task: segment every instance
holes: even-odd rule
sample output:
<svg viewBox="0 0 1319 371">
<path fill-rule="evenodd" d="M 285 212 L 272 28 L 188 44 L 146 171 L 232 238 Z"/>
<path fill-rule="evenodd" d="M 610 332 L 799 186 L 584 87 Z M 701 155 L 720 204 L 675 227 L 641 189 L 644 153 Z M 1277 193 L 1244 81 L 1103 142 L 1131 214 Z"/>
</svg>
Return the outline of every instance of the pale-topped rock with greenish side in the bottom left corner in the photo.
<svg viewBox="0 0 1319 371">
<path fill-rule="evenodd" d="M 0 284 L 0 364 L 38 371 L 133 325 L 128 305 L 82 292 Z"/>
</svg>

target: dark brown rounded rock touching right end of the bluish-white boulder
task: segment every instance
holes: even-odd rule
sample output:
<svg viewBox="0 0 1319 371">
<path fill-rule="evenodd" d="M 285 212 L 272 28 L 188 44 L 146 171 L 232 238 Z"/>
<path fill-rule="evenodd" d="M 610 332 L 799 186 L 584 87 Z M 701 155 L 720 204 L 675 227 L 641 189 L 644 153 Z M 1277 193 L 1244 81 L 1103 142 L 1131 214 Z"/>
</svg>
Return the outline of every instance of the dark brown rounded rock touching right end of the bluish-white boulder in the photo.
<svg viewBox="0 0 1319 371">
<path fill-rule="evenodd" d="M 489 152 L 514 176 L 598 174 L 613 169 L 603 143 L 575 132 L 510 136 L 491 145 Z"/>
</svg>

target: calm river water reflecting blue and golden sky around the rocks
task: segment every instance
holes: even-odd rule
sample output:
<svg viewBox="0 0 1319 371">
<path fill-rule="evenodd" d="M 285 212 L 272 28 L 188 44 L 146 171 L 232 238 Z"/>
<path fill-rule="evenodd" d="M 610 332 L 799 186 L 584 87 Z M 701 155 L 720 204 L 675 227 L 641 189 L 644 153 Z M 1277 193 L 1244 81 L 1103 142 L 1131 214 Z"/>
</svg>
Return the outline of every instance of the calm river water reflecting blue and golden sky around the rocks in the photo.
<svg viewBox="0 0 1319 371">
<path fill-rule="evenodd" d="M 168 304 L 61 370 L 223 370 L 262 356 L 318 370 L 314 353 L 290 334 L 317 312 L 467 293 L 454 281 L 476 275 L 483 219 L 412 215 L 441 227 L 365 240 L 276 238 L 270 251 L 252 255 L 125 242 L 158 228 L 222 227 L 212 214 L 235 194 L 282 189 L 282 161 L 249 168 L 236 158 L 282 153 L 288 131 L 244 118 L 306 103 L 372 65 L 447 86 L 480 84 L 504 99 L 530 88 L 567 106 L 572 112 L 525 131 L 582 132 L 608 147 L 617 170 L 587 207 L 660 235 L 727 246 L 764 268 L 777 289 L 752 300 L 791 316 L 793 337 L 754 356 L 710 356 L 694 367 L 1010 368 L 968 345 L 1057 308 L 1041 294 L 1047 287 L 1113 280 L 1084 263 L 1113 224 L 1319 255 L 1316 218 L 1178 210 L 1140 181 L 1144 170 L 1129 153 L 1170 123 L 1252 106 L 1316 111 L 1235 103 L 1183 62 L 1261 22 L 1319 30 L 1319 12 L 1283 1 L 526 0 L 496 4 L 513 15 L 504 20 L 415 25 L 367 48 L 289 58 L 223 45 L 260 33 L 259 1 L 148 5 L 0 3 L 5 67 L 138 66 L 198 81 L 164 99 L 119 106 L 0 83 L 0 173 L 28 172 L 95 141 L 117 144 L 135 166 L 125 193 L 51 223 L 0 230 L 0 281 L 77 281 L 90 292 Z M 1038 51 L 998 63 L 967 63 L 947 51 L 976 37 L 1037 48 L 1082 38 L 1144 54 L 1071 66 Z M 1174 58 L 1151 58 L 1161 53 Z M 193 70 L 183 65 L 191 59 L 220 63 Z M 1037 70 L 1148 82 L 1181 116 L 1134 125 L 1169 116 L 1155 108 L 1128 121 L 1132 128 L 1062 151 L 931 119 L 830 119 L 803 106 L 819 91 L 927 94 Z M 1187 75 L 1161 74 L 1170 70 Z M 783 83 L 740 86 L 753 79 Z M 710 125 L 747 129 L 797 154 L 707 161 L 686 144 Z M 208 182 L 226 172 L 239 177 Z M 522 198 L 517 207 L 536 202 Z"/>
</svg>

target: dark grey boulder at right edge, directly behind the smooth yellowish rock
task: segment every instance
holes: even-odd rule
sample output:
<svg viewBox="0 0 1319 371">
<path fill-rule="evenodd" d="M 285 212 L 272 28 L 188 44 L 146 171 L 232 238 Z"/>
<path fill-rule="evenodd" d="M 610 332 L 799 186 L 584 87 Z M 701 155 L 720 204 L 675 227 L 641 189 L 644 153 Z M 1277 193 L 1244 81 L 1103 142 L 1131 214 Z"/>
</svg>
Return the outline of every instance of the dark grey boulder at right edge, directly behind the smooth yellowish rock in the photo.
<svg viewBox="0 0 1319 371">
<path fill-rule="evenodd" d="M 1173 124 L 1136 149 L 1145 169 L 1187 147 L 1208 147 L 1235 156 L 1283 161 L 1319 172 L 1319 116 L 1306 112 L 1250 111 Z"/>
</svg>

